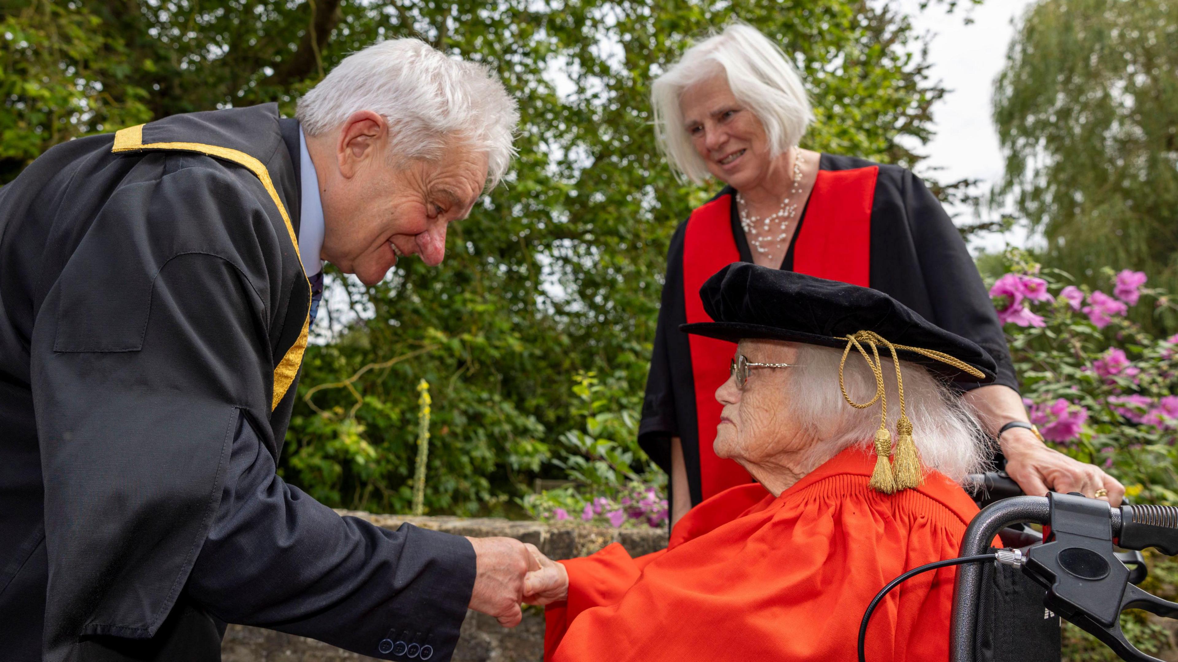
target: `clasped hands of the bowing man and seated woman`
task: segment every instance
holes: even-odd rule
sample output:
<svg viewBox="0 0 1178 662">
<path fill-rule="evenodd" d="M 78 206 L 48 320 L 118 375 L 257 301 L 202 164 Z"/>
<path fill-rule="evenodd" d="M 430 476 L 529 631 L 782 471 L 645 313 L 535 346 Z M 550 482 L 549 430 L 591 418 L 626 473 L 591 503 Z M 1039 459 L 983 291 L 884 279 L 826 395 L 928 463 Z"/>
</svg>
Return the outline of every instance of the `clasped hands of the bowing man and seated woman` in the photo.
<svg viewBox="0 0 1178 662">
<path fill-rule="evenodd" d="M 548 604 L 569 595 L 569 575 L 536 549 L 515 538 L 466 538 L 475 548 L 475 590 L 470 608 L 514 628 L 523 620 L 521 603 Z"/>
</svg>

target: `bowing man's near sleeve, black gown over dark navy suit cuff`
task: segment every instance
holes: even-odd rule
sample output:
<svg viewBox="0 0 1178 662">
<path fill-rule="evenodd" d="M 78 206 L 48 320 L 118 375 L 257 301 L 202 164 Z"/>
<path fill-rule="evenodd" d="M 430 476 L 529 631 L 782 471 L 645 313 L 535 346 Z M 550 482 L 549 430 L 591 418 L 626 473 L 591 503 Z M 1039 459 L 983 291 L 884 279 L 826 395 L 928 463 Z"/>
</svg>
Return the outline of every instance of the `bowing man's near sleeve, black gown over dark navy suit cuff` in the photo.
<svg viewBox="0 0 1178 662">
<path fill-rule="evenodd" d="M 418 637 L 404 641 L 445 660 L 474 584 L 469 542 L 342 519 L 286 488 L 258 438 L 273 444 L 273 273 L 292 250 L 265 192 L 205 157 L 144 161 L 33 333 L 46 656 L 86 635 L 152 637 L 191 587 L 229 621 L 386 658 L 404 656 L 383 640 Z"/>
</svg>

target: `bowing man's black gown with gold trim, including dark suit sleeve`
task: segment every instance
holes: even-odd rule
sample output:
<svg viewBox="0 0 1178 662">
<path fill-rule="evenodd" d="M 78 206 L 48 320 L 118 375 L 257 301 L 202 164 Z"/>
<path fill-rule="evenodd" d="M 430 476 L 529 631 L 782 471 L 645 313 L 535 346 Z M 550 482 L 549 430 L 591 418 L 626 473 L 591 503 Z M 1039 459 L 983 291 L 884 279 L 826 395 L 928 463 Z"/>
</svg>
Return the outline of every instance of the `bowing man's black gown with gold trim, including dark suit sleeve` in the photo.
<svg viewBox="0 0 1178 662">
<path fill-rule="evenodd" d="M 219 660 L 225 622 L 450 658 L 470 543 L 274 474 L 310 303 L 291 121 L 174 115 L 0 190 L 0 658 Z"/>
</svg>

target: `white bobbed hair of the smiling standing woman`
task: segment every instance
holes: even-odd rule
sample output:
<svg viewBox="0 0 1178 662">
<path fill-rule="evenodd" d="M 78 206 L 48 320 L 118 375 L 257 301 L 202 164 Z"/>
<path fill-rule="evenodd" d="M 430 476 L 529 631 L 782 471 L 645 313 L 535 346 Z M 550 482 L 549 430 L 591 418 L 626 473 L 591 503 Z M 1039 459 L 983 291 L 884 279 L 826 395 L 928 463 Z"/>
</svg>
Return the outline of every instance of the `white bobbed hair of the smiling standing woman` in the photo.
<svg viewBox="0 0 1178 662">
<path fill-rule="evenodd" d="M 684 90 L 714 75 L 726 75 L 733 95 L 761 120 L 770 157 L 798 145 L 814 121 L 806 88 L 781 47 L 750 25 L 728 24 L 688 48 L 650 92 L 659 147 L 696 184 L 709 177 L 708 166 L 691 146 L 679 104 Z"/>
</svg>

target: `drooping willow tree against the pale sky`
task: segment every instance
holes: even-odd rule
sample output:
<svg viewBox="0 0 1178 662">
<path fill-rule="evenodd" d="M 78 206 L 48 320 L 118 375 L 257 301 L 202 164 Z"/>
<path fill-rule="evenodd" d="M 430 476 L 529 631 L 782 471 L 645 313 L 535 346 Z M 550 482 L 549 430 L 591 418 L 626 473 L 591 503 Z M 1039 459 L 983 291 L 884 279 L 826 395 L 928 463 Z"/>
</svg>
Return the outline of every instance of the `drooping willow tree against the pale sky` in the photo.
<svg viewBox="0 0 1178 662">
<path fill-rule="evenodd" d="M 1178 5 L 1044 0 L 995 84 L 1001 204 L 1080 279 L 1144 269 L 1178 290 Z"/>
</svg>

